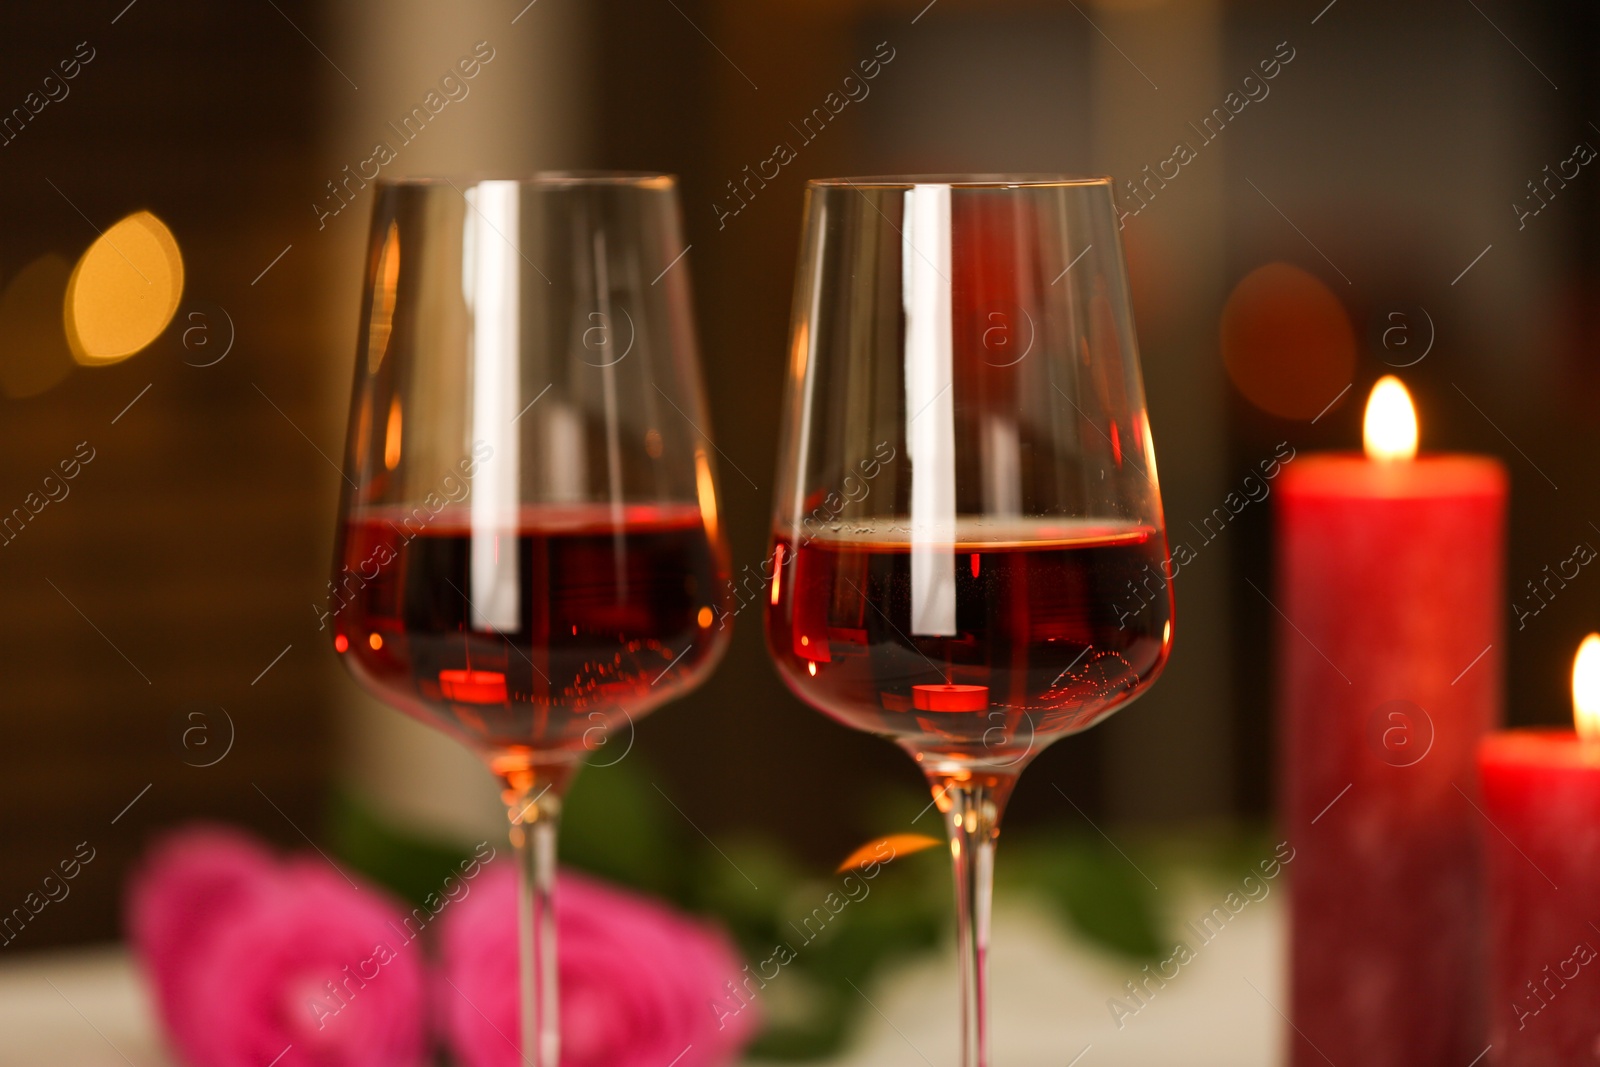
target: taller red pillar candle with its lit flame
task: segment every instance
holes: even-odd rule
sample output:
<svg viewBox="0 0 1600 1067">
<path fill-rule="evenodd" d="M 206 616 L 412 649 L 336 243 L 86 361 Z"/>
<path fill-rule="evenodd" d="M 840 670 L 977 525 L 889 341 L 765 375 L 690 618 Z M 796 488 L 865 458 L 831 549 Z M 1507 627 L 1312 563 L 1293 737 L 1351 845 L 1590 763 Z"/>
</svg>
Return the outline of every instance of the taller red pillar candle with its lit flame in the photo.
<svg viewBox="0 0 1600 1067">
<path fill-rule="evenodd" d="M 1365 458 L 1307 456 L 1278 483 L 1296 1067 L 1483 1051 L 1474 757 L 1501 710 L 1507 478 L 1414 453 L 1386 378 Z"/>
</svg>

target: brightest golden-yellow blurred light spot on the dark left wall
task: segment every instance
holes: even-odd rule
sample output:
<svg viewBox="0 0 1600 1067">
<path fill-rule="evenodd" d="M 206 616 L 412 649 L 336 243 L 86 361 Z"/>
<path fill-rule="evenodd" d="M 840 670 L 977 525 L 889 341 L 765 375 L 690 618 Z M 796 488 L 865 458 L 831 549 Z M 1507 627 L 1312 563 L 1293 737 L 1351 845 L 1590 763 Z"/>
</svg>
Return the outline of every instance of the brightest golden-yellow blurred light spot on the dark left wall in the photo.
<svg viewBox="0 0 1600 1067">
<path fill-rule="evenodd" d="M 117 363 L 162 336 L 184 294 L 184 258 L 166 224 L 134 211 L 101 234 L 72 269 L 62 307 L 72 357 Z"/>
</svg>

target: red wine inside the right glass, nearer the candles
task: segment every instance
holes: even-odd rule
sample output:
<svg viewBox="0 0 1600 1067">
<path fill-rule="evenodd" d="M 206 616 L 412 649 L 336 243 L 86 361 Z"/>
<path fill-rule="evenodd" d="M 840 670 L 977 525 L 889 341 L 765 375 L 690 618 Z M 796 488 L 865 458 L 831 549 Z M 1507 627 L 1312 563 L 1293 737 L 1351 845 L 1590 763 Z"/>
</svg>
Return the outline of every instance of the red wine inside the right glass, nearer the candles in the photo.
<svg viewBox="0 0 1600 1067">
<path fill-rule="evenodd" d="M 766 611 L 784 681 L 848 726 L 934 757 L 1021 761 L 1166 662 L 1166 541 L 1150 526 L 962 520 L 933 560 L 955 573 L 944 637 L 912 632 L 904 530 L 858 530 L 798 547 L 781 531 Z"/>
</svg>

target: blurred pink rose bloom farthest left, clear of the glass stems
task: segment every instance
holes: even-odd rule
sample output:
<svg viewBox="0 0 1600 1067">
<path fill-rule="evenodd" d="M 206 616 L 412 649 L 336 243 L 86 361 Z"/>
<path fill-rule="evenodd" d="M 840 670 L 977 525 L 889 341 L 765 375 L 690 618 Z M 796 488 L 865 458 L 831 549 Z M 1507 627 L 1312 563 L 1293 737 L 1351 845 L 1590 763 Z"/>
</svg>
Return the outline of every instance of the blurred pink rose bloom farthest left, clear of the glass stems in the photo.
<svg viewBox="0 0 1600 1067">
<path fill-rule="evenodd" d="M 130 893 L 134 947 L 184 1061 L 421 1064 L 424 958 L 400 907 L 320 857 L 246 862 L 227 837 L 176 835 Z"/>
</svg>

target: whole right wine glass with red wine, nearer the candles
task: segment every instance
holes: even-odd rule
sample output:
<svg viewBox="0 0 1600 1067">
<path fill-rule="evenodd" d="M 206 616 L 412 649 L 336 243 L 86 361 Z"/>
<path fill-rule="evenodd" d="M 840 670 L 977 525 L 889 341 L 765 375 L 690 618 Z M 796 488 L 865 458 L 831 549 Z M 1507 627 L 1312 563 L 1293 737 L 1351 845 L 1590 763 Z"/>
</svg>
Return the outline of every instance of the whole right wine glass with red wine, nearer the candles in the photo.
<svg viewBox="0 0 1600 1067">
<path fill-rule="evenodd" d="M 981 1067 L 1011 787 L 1173 637 L 1110 179 L 810 182 L 773 510 L 778 672 L 906 749 L 946 816 Z"/>
</svg>

